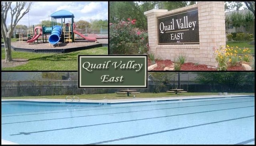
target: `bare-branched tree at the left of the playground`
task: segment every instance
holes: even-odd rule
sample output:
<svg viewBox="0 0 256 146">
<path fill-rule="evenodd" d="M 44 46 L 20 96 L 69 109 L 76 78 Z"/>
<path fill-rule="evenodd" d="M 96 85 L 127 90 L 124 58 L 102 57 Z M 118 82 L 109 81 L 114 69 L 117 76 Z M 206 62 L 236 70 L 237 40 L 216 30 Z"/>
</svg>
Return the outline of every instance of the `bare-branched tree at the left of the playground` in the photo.
<svg viewBox="0 0 256 146">
<path fill-rule="evenodd" d="M 27 2 L 16 2 L 16 6 L 12 8 L 12 2 L 2 2 L 2 9 L 1 9 L 1 33 L 4 40 L 4 49 L 5 49 L 5 61 L 10 62 L 12 61 L 12 49 L 11 49 L 11 38 L 12 33 L 20 19 L 29 12 L 30 6 L 32 2 L 28 3 L 28 7 L 26 10 L 21 14 L 22 10 L 26 6 Z M 6 25 L 6 20 L 8 16 L 8 11 L 10 10 L 11 14 L 11 23 L 10 29 L 8 30 L 8 26 Z"/>
</svg>

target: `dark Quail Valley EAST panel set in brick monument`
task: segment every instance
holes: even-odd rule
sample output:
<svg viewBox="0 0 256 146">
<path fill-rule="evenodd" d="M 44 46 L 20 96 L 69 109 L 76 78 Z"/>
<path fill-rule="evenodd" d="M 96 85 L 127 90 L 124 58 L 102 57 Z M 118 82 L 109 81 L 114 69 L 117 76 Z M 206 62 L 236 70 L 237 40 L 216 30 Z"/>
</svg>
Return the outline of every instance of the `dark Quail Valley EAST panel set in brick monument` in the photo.
<svg viewBox="0 0 256 146">
<path fill-rule="evenodd" d="M 158 44 L 199 44 L 198 10 L 157 18 Z"/>
</svg>

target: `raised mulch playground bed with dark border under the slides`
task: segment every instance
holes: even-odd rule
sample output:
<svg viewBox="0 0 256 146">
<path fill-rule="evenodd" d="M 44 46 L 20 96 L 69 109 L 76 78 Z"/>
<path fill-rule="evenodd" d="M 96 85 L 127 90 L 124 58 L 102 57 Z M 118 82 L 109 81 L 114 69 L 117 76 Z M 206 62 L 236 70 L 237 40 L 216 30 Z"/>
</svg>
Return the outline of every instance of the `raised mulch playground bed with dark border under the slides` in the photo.
<svg viewBox="0 0 256 146">
<path fill-rule="evenodd" d="M 48 42 L 35 41 L 26 43 L 26 40 L 12 42 L 14 51 L 33 52 L 33 53 L 69 53 L 79 50 L 92 49 L 96 47 L 108 47 L 108 39 L 97 39 L 97 42 L 86 40 L 76 40 L 72 43 L 58 43 L 51 45 Z"/>
</svg>

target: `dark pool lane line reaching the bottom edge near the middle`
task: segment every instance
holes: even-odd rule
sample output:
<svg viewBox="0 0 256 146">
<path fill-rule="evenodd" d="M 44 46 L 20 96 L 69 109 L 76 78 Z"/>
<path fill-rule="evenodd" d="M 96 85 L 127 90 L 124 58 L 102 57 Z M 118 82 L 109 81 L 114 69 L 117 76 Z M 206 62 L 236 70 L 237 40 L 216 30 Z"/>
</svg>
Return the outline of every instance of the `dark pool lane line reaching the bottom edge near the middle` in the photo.
<svg viewBox="0 0 256 146">
<path fill-rule="evenodd" d="M 227 122 L 227 121 L 233 121 L 233 120 L 244 119 L 244 118 L 250 118 L 250 117 L 254 117 L 254 115 L 253 115 L 253 116 L 247 116 L 247 117 L 235 118 L 235 119 L 228 119 L 228 120 L 216 121 L 216 122 L 211 122 L 211 123 L 198 124 L 198 125 L 193 125 L 193 126 L 188 126 L 188 127 L 174 128 L 174 129 L 169 129 L 169 130 L 162 130 L 162 131 L 158 131 L 158 132 L 140 134 L 140 135 L 135 135 L 135 136 L 128 136 L 128 137 L 123 137 L 123 138 L 118 138 L 118 139 L 113 139 L 113 140 L 106 140 L 106 141 L 101 141 L 101 142 L 95 142 L 95 143 L 90 143 L 90 144 L 104 144 L 104 143 L 107 143 L 107 142 L 114 142 L 114 141 L 119 141 L 119 140 L 126 140 L 126 139 L 131 139 L 131 138 L 137 138 L 137 137 L 142 137 L 142 136 L 148 136 L 148 135 L 152 135 L 152 134 L 159 134 L 159 133 L 164 133 L 164 132 L 170 132 L 170 131 L 181 130 L 181 129 L 186 129 L 186 128 L 192 128 L 192 127 L 199 127 L 199 126 L 204 126 L 204 125 L 216 124 L 216 123 Z"/>
</svg>

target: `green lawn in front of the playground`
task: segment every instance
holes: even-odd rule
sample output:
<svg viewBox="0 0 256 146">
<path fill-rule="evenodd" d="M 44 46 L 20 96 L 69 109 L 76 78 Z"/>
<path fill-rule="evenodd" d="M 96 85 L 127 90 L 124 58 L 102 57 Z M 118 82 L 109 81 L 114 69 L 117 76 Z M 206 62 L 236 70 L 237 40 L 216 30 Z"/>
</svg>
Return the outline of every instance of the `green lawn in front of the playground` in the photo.
<svg viewBox="0 0 256 146">
<path fill-rule="evenodd" d="M 2 47 L 2 58 L 5 51 Z M 108 47 L 97 47 L 71 53 L 30 53 L 12 51 L 12 58 L 28 59 L 27 64 L 2 70 L 78 70 L 78 55 L 108 55 Z"/>
</svg>

